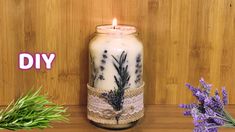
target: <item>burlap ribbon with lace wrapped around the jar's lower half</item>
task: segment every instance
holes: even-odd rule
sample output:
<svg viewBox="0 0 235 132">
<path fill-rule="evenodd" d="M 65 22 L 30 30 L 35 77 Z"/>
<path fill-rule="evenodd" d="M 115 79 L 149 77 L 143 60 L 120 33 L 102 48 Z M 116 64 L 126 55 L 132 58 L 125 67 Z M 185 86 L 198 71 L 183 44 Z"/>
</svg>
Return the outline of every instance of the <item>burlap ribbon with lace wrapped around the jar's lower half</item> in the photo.
<svg viewBox="0 0 235 132">
<path fill-rule="evenodd" d="M 116 111 L 112 109 L 107 102 L 102 101 L 104 100 L 100 95 L 102 93 L 108 93 L 109 90 L 104 90 L 101 88 L 94 88 L 90 85 L 87 85 L 88 88 L 88 112 L 87 117 L 89 120 L 92 120 L 97 123 L 102 124 L 128 124 L 130 122 L 136 121 L 143 117 L 144 110 L 143 110 L 143 85 L 138 88 L 128 88 L 125 90 L 124 93 L 124 100 L 131 100 L 133 104 L 123 104 L 123 109 L 120 111 Z M 90 100 L 90 97 L 95 97 L 95 101 L 97 102 L 100 100 L 99 103 L 105 103 L 102 107 L 100 107 L 95 102 Z M 94 99 L 93 99 L 94 100 Z M 125 103 L 125 101 L 124 101 Z M 104 106 L 109 107 L 104 107 Z M 119 118 L 117 122 L 116 118 Z"/>
</svg>

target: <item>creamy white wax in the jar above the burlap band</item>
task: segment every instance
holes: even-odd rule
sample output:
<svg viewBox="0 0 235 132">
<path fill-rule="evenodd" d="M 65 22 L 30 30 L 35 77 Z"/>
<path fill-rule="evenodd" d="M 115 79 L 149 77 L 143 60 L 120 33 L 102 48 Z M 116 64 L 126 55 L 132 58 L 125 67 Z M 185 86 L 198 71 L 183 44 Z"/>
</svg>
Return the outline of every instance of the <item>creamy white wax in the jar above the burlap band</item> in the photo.
<svg viewBox="0 0 235 132">
<path fill-rule="evenodd" d="M 125 65 L 128 65 L 130 76 L 128 86 L 126 87 L 139 87 L 143 81 L 143 46 L 136 35 L 133 34 L 135 28 L 131 26 L 118 26 L 116 29 L 110 29 L 110 26 L 103 26 L 103 30 L 101 27 L 98 27 L 97 31 L 99 33 L 90 41 L 89 45 L 90 63 L 94 63 L 94 66 L 90 67 L 90 83 L 94 81 L 92 84 L 95 88 L 107 90 L 117 88 L 114 76 L 119 77 L 119 74 L 113 65 L 115 59 L 112 56 L 119 58 L 124 51 L 127 54 Z M 137 63 L 138 56 L 140 62 Z M 102 62 L 102 60 L 105 62 Z M 137 65 L 140 67 L 137 68 Z M 101 70 L 101 66 L 103 70 Z M 91 77 L 94 68 L 97 69 L 96 80 L 92 80 Z M 103 79 L 97 78 L 99 75 L 102 75 Z"/>
</svg>

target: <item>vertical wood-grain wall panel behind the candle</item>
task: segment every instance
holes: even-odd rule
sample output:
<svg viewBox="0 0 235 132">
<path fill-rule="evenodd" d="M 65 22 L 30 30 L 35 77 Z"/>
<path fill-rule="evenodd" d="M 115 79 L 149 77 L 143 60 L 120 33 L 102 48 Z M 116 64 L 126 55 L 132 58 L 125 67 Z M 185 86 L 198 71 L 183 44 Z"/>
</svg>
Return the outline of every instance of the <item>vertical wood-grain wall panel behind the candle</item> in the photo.
<svg viewBox="0 0 235 132">
<path fill-rule="evenodd" d="M 200 77 L 226 86 L 235 104 L 235 0 L 0 0 L 0 105 L 33 86 L 85 104 L 88 42 L 114 17 L 139 29 L 146 104 L 190 102 L 184 84 Z M 52 70 L 19 70 L 26 51 L 56 53 Z"/>
</svg>

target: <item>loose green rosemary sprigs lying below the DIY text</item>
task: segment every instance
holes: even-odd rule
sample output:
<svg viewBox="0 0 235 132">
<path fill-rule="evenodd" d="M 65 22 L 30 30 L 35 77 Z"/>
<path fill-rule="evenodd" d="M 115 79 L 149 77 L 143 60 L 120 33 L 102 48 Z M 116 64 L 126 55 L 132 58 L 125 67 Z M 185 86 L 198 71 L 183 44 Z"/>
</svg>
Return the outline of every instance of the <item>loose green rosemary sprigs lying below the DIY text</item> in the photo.
<svg viewBox="0 0 235 132">
<path fill-rule="evenodd" d="M 41 88 L 40 88 L 41 89 Z M 44 129 L 51 127 L 52 121 L 67 121 L 62 106 L 55 105 L 47 100 L 46 96 L 39 95 L 37 91 L 29 91 L 16 102 L 0 111 L 0 129 Z"/>
</svg>

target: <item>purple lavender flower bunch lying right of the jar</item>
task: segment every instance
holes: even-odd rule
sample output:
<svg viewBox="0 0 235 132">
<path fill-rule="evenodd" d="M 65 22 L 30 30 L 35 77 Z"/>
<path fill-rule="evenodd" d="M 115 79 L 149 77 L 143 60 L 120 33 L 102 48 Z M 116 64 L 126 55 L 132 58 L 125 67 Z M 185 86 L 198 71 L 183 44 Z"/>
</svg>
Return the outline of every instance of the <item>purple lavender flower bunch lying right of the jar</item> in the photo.
<svg viewBox="0 0 235 132">
<path fill-rule="evenodd" d="M 201 84 L 199 88 L 186 84 L 198 103 L 180 105 L 185 109 L 185 116 L 193 117 L 194 132 L 217 132 L 219 127 L 235 127 L 235 120 L 224 109 L 228 104 L 225 88 L 222 88 L 221 99 L 218 90 L 213 96 L 210 95 L 211 84 L 207 84 L 203 78 L 199 82 Z"/>
</svg>

